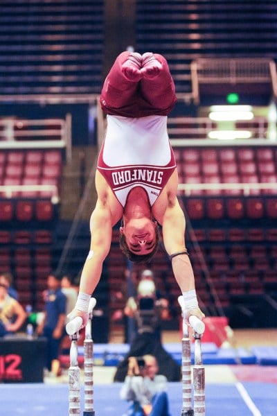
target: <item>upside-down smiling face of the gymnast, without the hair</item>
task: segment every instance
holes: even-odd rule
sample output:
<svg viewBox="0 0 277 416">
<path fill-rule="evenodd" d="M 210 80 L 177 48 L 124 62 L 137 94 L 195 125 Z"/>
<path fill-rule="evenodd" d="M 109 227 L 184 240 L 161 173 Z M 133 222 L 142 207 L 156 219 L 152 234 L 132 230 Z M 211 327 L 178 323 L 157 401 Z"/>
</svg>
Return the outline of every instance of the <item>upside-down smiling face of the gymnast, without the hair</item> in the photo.
<svg viewBox="0 0 277 416">
<path fill-rule="evenodd" d="M 132 218 L 120 227 L 125 235 L 129 250 L 134 254 L 144 255 L 152 252 L 156 244 L 156 227 L 149 218 Z"/>
</svg>

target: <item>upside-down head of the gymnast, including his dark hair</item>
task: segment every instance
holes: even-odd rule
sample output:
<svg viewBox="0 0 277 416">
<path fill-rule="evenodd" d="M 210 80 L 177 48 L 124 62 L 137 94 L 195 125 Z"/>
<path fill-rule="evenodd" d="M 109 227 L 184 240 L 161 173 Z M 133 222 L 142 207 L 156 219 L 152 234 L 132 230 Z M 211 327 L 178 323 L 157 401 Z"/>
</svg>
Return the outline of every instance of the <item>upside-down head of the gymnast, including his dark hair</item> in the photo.
<svg viewBox="0 0 277 416">
<path fill-rule="evenodd" d="M 134 263 L 146 263 L 159 247 L 159 227 L 150 218 L 124 219 L 119 229 L 119 245 L 127 259 Z"/>
</svg>

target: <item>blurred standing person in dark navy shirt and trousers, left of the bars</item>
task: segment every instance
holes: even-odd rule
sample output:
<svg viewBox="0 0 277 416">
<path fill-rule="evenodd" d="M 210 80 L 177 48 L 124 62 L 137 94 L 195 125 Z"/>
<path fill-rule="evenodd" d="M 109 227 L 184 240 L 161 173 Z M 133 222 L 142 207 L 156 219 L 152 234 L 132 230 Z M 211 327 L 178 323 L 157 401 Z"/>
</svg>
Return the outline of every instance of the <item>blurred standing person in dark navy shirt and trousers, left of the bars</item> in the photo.
<svg viewBox="0 0 277 416">
<path fill-rule="evenodd" d="M 37 327 L 37 333 L 47 338 L 46 367 L 57 376 L 60 373 L 58 356 L 64 334 L 66 296 L 62 293 L 60 279 L 54 274 L 48 275 L 47 286 L 44 320 Z"/>
</svg>

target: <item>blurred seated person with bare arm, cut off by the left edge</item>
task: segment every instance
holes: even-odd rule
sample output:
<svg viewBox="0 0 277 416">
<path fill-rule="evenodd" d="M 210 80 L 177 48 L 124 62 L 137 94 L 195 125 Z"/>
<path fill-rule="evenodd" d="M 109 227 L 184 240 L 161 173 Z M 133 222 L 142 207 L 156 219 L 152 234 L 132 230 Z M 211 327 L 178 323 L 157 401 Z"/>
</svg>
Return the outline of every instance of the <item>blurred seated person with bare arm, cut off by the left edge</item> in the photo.
<svg viewBox="0 0 277 416">
<path fill-rule="evenodd" d="M 21 304 L 8 294 L 10 280 L 7 275 L 0 275 L 0 336 L 17 332 L 26 320 Z"/>
</svg>

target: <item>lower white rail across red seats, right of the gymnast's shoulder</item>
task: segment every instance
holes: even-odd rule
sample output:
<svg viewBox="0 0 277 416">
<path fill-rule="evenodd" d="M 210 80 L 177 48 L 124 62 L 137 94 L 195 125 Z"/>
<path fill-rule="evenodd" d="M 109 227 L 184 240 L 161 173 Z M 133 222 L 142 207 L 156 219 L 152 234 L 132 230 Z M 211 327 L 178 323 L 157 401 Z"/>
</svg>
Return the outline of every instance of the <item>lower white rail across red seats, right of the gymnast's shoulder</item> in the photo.
<svg viewBox="0 0 277 416">
<path fill-rule="evenodd" d="M 256 183 L 202 183 L 202 184 L 179 184 L 178 191 L 184 191 L 184 195 L 190 196 L 191 191 L 224 191 L 240 190 L 244 196 L 249 196 L 251 191 L 262 191 L 263 189 L 275 189 L 277 194 L 277 184 L 274 182 Z"/>
</svg>

